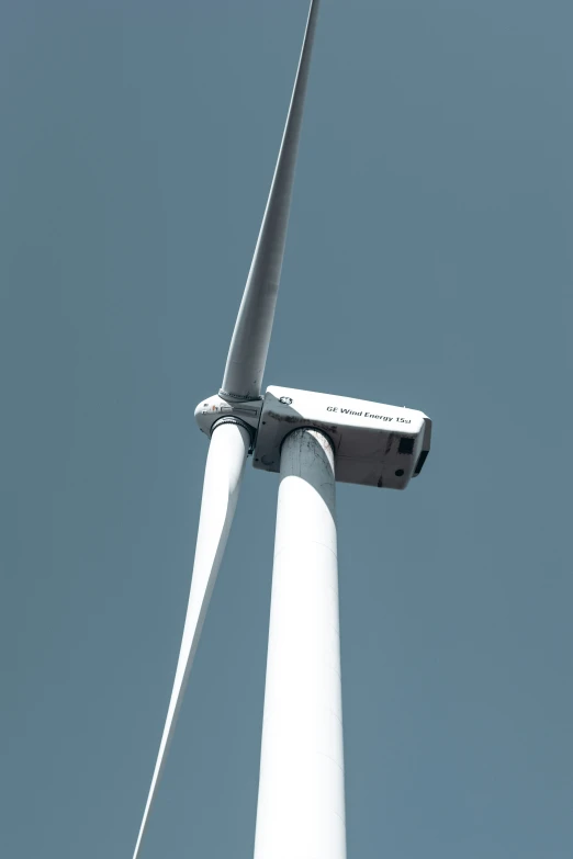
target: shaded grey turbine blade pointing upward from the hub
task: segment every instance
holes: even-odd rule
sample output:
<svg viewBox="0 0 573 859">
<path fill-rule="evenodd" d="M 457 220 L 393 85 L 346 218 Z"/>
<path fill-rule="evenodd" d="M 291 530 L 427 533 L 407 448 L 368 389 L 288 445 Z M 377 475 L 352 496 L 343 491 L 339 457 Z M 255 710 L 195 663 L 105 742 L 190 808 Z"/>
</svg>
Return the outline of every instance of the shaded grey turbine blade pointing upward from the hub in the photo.
<svg viewBox="0 0 573 859">
<path fill-rule="evenodd" d="M 260 396 L 284 256 L 294 167 L 317 15 L 318 0 L 312 0 L 279 159 L 235 323 L 220 392 L 222 397 L 231 399 L 256 399 Z"/>
</svg>

